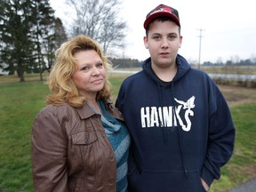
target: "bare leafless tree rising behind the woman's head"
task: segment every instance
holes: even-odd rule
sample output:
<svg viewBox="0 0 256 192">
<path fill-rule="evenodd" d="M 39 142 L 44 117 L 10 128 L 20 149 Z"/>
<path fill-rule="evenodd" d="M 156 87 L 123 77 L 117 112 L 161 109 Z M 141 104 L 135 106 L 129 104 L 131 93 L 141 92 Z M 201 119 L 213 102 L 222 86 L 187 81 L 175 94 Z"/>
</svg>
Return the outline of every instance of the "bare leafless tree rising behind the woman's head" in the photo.
<svg viewBox="0 0 256 192">
<path fill-rule="evenodd" d="M 71 36 L 91 36 L 105 53 L 108 48 L 124 47 L 126 22 L 120 18 L 119 0 L 67 0 L 67 3 L 76 11 Z"/>
</svg>

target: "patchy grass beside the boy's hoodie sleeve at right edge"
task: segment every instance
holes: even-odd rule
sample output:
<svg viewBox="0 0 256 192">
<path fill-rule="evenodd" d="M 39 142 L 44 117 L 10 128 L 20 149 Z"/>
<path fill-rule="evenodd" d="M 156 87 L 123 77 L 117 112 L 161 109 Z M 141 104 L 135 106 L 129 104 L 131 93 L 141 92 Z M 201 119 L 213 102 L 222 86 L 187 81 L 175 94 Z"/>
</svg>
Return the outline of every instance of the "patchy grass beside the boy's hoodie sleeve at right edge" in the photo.
<svg viewBox="0 0 256 192">
<path fill-rule="evenodd" d="M 220 180 L 214 181 L 211 192 L 227 191 L 256 177 L 256 103 L 231 108 L 236 125 L 234 155 L 221 169 Z"/>
</svg>

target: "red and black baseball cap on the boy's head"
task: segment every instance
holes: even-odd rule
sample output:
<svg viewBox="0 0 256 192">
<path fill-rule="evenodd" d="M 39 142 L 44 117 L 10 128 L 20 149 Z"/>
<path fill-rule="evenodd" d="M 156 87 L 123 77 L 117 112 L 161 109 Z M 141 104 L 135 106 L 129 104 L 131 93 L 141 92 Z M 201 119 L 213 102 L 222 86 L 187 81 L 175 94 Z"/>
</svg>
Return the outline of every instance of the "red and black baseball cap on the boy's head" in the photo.
<svg viewBox="0 0 256 192">
<path fill-rule="evenodd" d="M 158 17 L 170 17 L 177 25 L 180 26 L 179 12 L 170 6 L 159 4 L 151 12 L 148 12 L 146 20 L 144 21 L 144 28 L 147 30 L 149 23 Z"/>
</svg>

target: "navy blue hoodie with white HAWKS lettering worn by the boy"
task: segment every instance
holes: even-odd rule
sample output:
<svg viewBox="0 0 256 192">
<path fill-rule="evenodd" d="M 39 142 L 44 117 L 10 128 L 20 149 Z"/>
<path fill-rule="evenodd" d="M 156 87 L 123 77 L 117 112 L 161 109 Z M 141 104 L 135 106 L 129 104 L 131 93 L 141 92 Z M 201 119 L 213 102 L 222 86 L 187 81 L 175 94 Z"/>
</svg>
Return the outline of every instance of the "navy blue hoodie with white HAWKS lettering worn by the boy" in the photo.
<svg viewBox="0 0 256 192">
<path fill-rule="evenodd" d="M 132 136 L 132 192 L 205 191 L 200 177 L 210 186 L 232 155 L 235 127 L 217 85 L 180 55 L 176 63 L 170 83 L 155 75 L 149 58 L 121 85 L 116 107 Z"/>
</svg>

